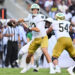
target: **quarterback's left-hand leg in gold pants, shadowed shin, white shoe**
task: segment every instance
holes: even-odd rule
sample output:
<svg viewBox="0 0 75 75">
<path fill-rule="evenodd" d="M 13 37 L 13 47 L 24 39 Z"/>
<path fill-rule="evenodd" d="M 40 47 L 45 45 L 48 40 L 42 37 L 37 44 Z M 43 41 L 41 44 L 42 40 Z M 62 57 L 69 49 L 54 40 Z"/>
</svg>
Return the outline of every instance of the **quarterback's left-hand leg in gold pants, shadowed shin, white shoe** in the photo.
<svg viewBox="0 0 75 75">
<path fill-rule="evenodd" d="M 39 40 L 37 41 L 37 43 L 38 42 L 39 42 Z M 26 71 L 28 71 L 30 69 L 29 64 L 31 61 L 31 57 L 34 55 L 35 51 L 39 47 L 39 45 L 37 45 L 37 43 L 36 43 L 36 40 L 33 40 L 32 43 L 30 44 L 29 49 L 28 49 L 28 55 L 26 57 L 26 67 L 20 73 L 25 73 Z"/>
</svg>

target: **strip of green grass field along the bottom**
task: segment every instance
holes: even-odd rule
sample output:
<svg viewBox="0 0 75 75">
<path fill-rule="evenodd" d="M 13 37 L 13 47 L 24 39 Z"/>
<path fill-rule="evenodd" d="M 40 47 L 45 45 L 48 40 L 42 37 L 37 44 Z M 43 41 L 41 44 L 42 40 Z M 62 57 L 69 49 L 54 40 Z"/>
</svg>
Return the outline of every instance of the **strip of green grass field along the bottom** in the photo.
<svg viewBox="0 0 75 75">
<path fill-rule="evenodd" d="M 49 69 L 40 69 L 39 72 L 33 72 L 30 69 L 24 74 L 20 74 L 20 68 L 0 68 L 0 75 L 51 75 L 49 74 Z M 62 73 L 56 73 L 52 75 L 69 75 L 66 69 L 62 69 Z"/>
</svg>

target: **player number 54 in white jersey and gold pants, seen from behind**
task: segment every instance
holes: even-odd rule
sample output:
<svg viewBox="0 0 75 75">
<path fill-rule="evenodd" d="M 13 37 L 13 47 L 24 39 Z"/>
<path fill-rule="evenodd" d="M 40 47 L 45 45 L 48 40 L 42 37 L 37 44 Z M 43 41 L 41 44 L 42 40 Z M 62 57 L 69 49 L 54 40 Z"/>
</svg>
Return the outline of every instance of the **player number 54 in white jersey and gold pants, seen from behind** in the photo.
<svg viewBox="0 0 75 75">
<path fill-rule="evenodd" d="M 48 31 L 54 30 L 57 38 L 57 43 L 53 49 L 52 61 L 55 65 L 55 71 L 61 72 L 58 66 L 58 58 L 64 49 L 69 53 L 70 57 L 75 61 L 75 49 L 73 47 L 72 40 L 69 35 L 70 22 L 65 21 L 63 13 L 57 13 L 56 19 L 54 20 Z"/>
</svg>

